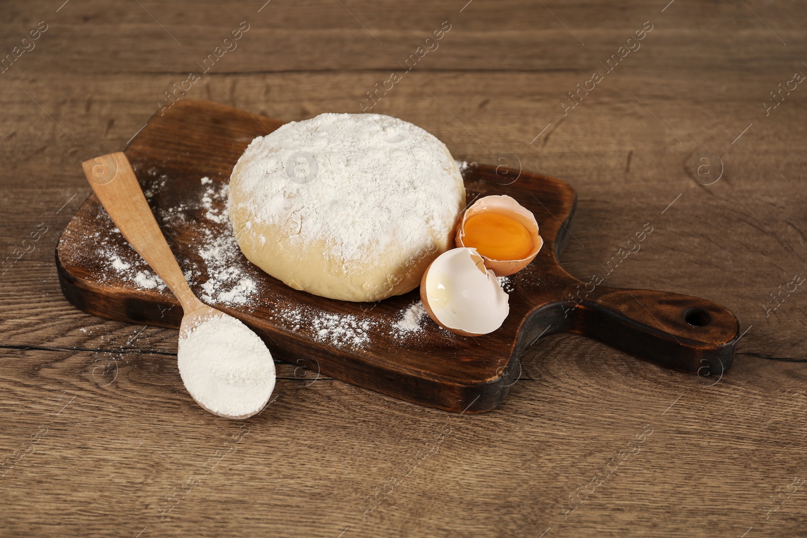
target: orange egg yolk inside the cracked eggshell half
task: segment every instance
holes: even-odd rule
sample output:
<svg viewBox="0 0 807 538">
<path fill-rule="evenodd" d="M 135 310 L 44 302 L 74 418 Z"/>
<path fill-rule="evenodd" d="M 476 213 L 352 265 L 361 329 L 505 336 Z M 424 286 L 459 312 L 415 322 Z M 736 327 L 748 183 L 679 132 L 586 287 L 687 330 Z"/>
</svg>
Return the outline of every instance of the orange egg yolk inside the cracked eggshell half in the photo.
<svg viewBox="0 0 807 538">
<path fill-rule="evenodd" d="M 491 260 L 523 260 L 533 253 L 524 224 L 502 213 L 479 213 L 465 221 L 462 243 Z"/>
</svg>

